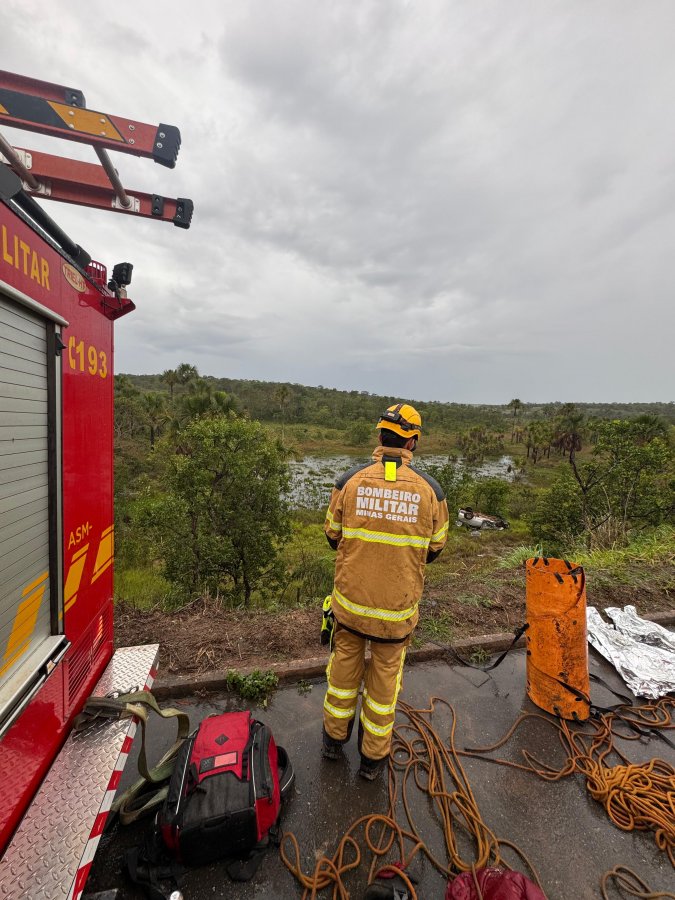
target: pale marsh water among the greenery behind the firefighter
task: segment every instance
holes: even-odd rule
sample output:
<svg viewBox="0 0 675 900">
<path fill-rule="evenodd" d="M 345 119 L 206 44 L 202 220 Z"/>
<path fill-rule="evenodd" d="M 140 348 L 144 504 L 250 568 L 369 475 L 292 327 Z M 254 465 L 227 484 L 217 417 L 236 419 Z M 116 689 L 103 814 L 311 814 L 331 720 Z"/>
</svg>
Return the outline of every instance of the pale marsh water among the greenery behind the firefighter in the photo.
<svg viewBox="0 0 675 900">
<path fill-rule="evenodd" d="M 328 505 L 330 492 L 338 475 L 368 462 L 370 454 L 360 456 L 305 456 L 299 461 L 289 463 L 291 470 L 291 490 L 289 499 L 294 507 L 306 509 L 320 509 Z M 444 466 L 449 462 L 447 454 L 415 455 L 414 465 L 419 469 L 429 466 Z M 454 465 L 464 465 L 461 458 L 454 460 Z M 510 456 L 501 456 L 490 462 L 482 463 L 475 468 L 476 475 L 483 478 L 503 478 L 506 481 L 513 479 L 513 459 Z"/>
</svg>

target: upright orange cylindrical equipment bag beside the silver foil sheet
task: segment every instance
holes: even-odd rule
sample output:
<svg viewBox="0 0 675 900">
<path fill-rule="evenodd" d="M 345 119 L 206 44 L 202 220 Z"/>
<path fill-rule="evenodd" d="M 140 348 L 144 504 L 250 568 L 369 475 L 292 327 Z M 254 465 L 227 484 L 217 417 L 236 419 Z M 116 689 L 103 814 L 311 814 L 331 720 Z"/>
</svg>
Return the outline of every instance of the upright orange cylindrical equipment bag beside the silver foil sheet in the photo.
<svg viewBox="0 0 675 900">
<path fill-rule="evenodd" d="M 525 570 L 527 694 L 553 715 L 583 721 L 590 713 L 584 570 L 541 556 Z"/>
</svg>

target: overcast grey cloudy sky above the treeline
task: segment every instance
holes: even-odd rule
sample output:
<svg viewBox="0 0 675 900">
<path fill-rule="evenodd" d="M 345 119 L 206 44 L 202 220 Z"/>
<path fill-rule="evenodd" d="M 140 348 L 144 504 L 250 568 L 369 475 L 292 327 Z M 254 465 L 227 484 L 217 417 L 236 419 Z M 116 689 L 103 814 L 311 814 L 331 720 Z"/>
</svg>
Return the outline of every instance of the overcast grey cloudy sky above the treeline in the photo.
<svg viewBox="0 0 675 900">
<path fill-rule="evenodd" d="M 45 204 L 134 263 L 117 371 L 675 395 L 671 0 L 3 0 L 0 67 L 181 129 L 116 162 L 189 231 Z"/>
</svg>

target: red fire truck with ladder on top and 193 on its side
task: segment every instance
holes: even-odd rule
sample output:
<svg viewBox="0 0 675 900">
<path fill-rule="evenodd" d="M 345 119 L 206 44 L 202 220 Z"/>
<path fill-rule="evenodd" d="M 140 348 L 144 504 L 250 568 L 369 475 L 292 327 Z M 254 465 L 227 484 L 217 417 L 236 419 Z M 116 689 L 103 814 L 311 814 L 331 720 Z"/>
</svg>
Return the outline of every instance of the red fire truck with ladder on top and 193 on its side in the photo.
<svg viewBox="0 0 675 900">
<path fill-rule="evenodd" d="M 82 892 L 133 732 L 75 737 L 73 718 L 93 692 L 151 683 L 157 648 L 111 660 L 113 323 L 134 309 L 132 266 L 109 275 L 35 197 L 183 228 L 192 203 L 125 190 L 108 156 L 173 168 L 175 127 L 7 72 L 2 125 L 88 143 L 101 163 L 0 136 L 0 897 L 51 900 Z"/>
</svg>

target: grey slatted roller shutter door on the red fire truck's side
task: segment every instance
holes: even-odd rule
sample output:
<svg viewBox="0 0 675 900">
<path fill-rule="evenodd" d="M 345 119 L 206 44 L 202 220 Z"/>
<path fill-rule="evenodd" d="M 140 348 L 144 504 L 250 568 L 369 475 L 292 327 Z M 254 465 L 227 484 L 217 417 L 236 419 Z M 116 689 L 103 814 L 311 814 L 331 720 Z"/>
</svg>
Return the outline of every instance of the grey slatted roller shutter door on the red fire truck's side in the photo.
<svg viewBox="0 0 675 900">
<path fill-rule="evenodd" d="M 0 291 L 0 706 L 51 635 L 46 319 Z"/>
</svg>

